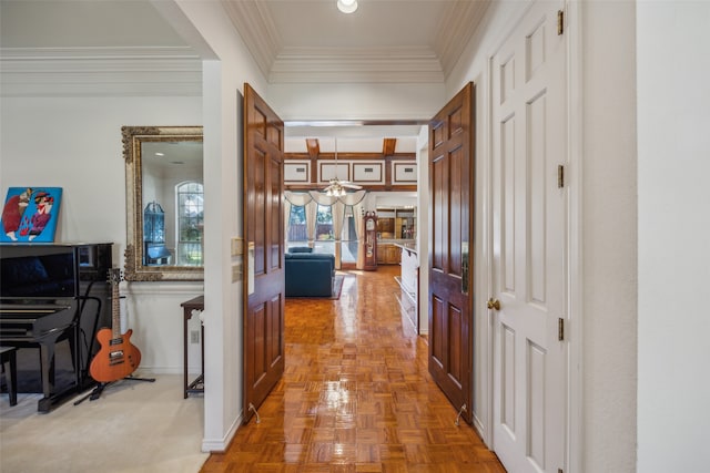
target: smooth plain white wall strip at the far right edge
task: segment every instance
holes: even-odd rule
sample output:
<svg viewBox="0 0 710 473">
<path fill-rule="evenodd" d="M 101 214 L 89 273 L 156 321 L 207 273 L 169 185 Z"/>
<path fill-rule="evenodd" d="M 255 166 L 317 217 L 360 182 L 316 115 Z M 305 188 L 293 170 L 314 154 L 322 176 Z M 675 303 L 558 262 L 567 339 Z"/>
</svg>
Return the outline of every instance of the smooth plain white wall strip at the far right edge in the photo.
<svg viewBox="0 0 710 473">
<path fill-rule="evenodd" d="M 638 3 L 638 471 L 710 465 L 710 3 Z"/>
</svg>

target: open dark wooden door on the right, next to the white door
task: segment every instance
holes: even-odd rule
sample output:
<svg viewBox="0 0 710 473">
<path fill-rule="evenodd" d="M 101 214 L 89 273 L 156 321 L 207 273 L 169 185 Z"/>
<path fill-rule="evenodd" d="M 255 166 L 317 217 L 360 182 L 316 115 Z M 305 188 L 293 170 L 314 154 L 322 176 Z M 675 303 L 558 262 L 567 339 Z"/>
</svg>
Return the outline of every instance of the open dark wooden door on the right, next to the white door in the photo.
<svg viewBox="0 0 710 473">
<path fill-rule="evenodd" d="M 429 123 L 429 373 L 471 422 L 474 84 Z"/>
</svg>

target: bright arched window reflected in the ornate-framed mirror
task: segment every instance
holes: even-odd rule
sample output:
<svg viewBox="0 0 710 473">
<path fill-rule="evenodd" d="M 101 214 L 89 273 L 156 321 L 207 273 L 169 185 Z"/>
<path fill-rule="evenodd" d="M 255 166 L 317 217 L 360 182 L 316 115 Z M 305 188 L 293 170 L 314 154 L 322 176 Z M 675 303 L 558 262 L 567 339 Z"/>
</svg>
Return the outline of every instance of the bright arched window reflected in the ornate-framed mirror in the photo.
<svg viewBox="0 0 710 473">
<path fill-rule="evenodd" d="M 204 229 L 203 185 L 186 182 L 175 187 L 178 205 L 176 264 L 179 266 L 202 266 Z"/>
</svg>

